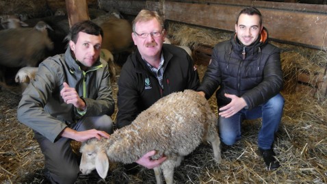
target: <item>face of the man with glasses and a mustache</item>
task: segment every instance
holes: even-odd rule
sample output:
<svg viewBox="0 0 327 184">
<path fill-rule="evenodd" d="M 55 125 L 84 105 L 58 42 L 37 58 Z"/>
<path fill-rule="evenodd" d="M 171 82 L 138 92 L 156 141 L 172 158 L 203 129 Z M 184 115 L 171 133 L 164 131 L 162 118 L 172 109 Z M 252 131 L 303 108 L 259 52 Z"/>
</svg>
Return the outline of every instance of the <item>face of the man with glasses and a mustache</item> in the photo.
<svg viewBox="0 0 327 184">
<path fill-rule="evenodd" d="M 161 54 L 162 44 L 166 32 L 162 31 L 159 21 L 152 18 L 150 21 L 140 21 L 135 24 L 135 32 L 138 34 L 148 34 L 146 38 L 140 38 L 137 34 L 132 33 L 134 44 L 138 47 L 140 54 L 145 60 L 158 60 Z M 154 37 L 151 33 L 161 32 L 159 37 Z"/>
</svg>

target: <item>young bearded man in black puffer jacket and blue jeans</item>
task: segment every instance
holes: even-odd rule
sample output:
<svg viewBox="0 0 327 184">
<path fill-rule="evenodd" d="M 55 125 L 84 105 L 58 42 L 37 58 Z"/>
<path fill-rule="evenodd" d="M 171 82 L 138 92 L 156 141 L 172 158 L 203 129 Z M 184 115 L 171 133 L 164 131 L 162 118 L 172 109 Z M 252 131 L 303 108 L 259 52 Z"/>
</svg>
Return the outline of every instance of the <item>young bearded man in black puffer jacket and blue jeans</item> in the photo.
<svg viewBox="0 0 327 184">
<path fill-rule="evenodd" d="M 274 170 L 280 166 L 272 144 L 283 114 L 283 73 L 280 50 L 267 39 L 259 10 L 241 10 L 233 38 L 213 49 L 198 91 L 210 98 L 219 87 L 218 127 L 224 144 L 240 140 L 242 120 L 262 118 L 258 146 L 267 168 Z"/>
</svg>

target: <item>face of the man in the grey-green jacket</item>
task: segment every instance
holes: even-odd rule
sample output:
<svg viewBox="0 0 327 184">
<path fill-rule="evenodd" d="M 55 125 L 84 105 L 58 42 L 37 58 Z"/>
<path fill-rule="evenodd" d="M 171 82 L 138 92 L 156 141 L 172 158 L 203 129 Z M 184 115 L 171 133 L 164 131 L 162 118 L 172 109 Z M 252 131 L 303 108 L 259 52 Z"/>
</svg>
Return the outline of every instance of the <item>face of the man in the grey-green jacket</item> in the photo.
<svg viewBox="0 0 327 184">
<path fill-rule="evenodd" d="M 101 52 L 101 35 L 95 36 L 79 32 L 77 42 L 70 40 L 70 49 L 74 52 L 76 60 L 81 62 L 81 68 L 90 68 L 98 60 Z"/>
</svg>

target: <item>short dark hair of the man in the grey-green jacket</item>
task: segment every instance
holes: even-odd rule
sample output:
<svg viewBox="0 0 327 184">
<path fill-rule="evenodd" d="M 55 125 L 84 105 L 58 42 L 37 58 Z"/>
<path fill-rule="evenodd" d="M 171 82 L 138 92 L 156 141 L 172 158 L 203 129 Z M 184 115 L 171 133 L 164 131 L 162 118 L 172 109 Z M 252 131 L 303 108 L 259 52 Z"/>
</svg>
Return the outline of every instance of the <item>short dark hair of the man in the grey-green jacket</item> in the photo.
<svg viewBox="0 0 327 184">
<path fill-rule="evenodd" d="M 96 23 L 93 23 L 92 21 L 81 21 L 75 23 L 75 25 L 73 25 L 73 27 L 70 28 L 71 40 L 75 43 L 77 42 L 79 32 L 92 34 L 95 36 L 101 35 L 101 37 L 103 38 L 103 29 L 99 25 L 96 25 Z"/>
</svg>

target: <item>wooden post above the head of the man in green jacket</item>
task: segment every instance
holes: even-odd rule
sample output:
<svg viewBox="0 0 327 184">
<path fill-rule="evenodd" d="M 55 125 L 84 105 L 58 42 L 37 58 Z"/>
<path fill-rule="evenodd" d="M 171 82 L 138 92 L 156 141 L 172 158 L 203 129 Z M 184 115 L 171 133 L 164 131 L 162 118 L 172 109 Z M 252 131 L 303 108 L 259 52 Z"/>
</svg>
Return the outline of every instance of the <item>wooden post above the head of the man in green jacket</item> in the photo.
<svg viewBox="0 0 327 184">
<path fill-rule="evenodd" d="M 86 0 L 66 0 L 69 27 L 79 21 L 90 20 Z"/>
</svg>

